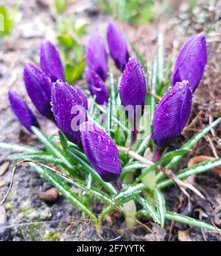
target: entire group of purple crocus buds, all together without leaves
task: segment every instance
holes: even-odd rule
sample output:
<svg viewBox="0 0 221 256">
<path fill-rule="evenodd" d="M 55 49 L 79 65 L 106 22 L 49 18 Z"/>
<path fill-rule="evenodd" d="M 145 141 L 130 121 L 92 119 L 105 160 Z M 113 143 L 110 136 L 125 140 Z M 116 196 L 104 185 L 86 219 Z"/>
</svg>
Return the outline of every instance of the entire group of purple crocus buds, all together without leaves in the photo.
<svg viewBox="0 0 221 256">
<path fill-rule="evenodd" d="M 129 58 L 127 43 L 114 22 L 108 25 L 110 55 L 121 70 L 119 97 L 127 118 L 135 125 L 132 142 L 136 138 L 136 124 L 146 99 L 144 70 L 136 57 Z M 152 121 L 152 141 L 159 149 L 169 146 L 177 138 L 189 119 L 194 90 L 203 76 L 206 65 L 206 38 L 203 34 L 193 36 L 183 45 L 175 63 L 172 87 L 156 107 Z M 87 67 L 85 78 L 88 90 L 97 104 L 108 104 L 108 54 L 102 38 L 96 33 L 86 49 Z M 104 181 L 115 181 L 122 172 L 119 152 L 112 138 L 95 124 L 88 121 L 88 99 L 79 87 L 71 87 L 64 78 L 59 53 L 49 41 L 41 44 L 40 67 L 24 66 L 24 84 L 38 112 L 55 121 L 69 141 L 80 146 L 91 165 Z M 40 127 L 37 118 L 27 104 L 15 92 L 9 92 L 13 112 L 32 132 Z M 127 109 L 129 107 L 129 109 Z M 127 110 L 131 110 L 127 111 Z M 138 110 L 141 110 L 141 115 Z"/>
</svg>

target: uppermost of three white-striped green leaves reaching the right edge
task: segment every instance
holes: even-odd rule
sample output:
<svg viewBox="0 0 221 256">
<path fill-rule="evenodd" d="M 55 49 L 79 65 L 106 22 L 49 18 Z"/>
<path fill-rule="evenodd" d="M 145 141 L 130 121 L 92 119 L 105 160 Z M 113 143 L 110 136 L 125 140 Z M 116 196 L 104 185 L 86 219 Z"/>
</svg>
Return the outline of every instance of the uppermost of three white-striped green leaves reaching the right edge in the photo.
<svg viewBox="0 0 221 256">
<path fill-rule="evenodd" d="M 220 124 L 221 117 L 217 120 L 213 121 L 211 124 L 209 124 L 207 127 L 202 129 L 200 132 L 198 132 L 196 135 L 194 135 L 189 141 L 186 142 L 183 146 L 181 146 L 180 149 L 189 149 L 191 150 L 195 144 L 197 144 L 201 138 L 203 138 L 206 133 L 208 133 L 212 128 L 216 127 L 218 124 Z M 183 155 L 178 155 L 175 158 L 172 159 L 172 161 L 169 162 L 169 164 L 166 165 L 166 169 L 172 169 L 174 166 L 176 166 L 183 158 Z M 158 173 L 156 177 L 156 181 L 159 182 L 164 178 L 164 173 L 160 172 Z"/>
</svg>

